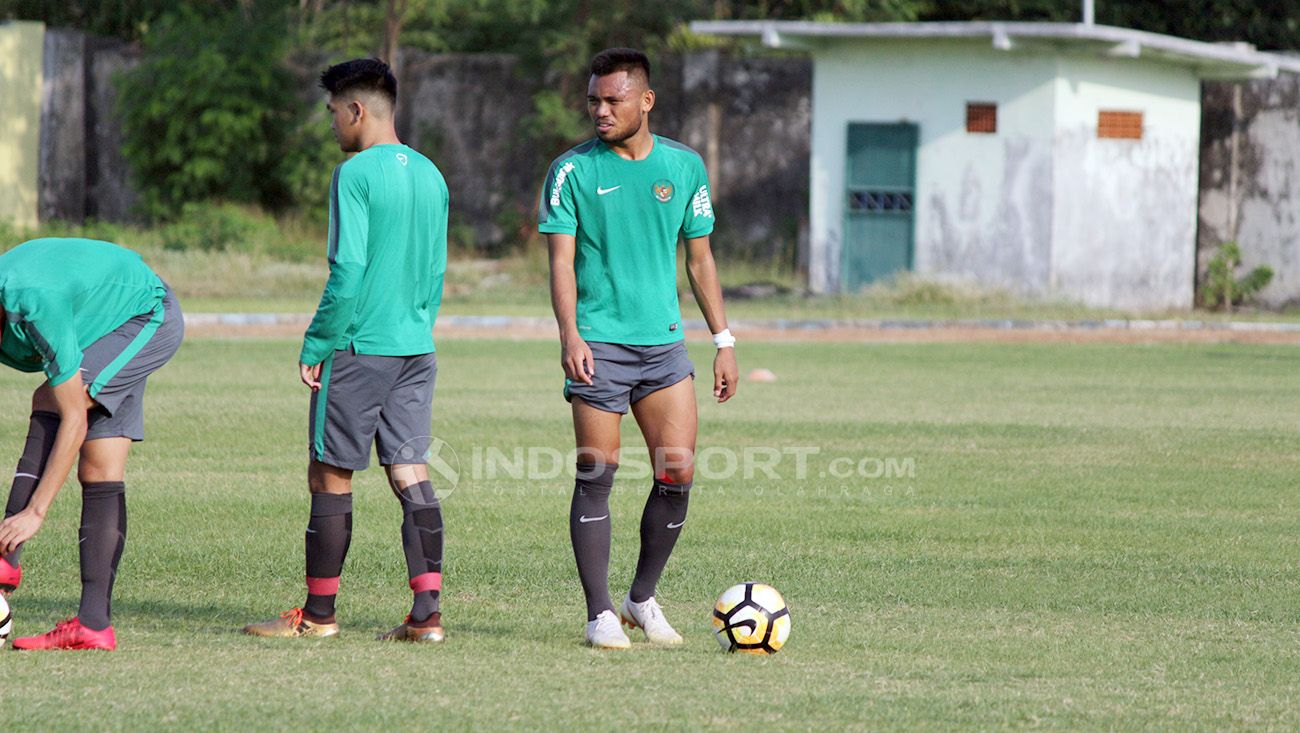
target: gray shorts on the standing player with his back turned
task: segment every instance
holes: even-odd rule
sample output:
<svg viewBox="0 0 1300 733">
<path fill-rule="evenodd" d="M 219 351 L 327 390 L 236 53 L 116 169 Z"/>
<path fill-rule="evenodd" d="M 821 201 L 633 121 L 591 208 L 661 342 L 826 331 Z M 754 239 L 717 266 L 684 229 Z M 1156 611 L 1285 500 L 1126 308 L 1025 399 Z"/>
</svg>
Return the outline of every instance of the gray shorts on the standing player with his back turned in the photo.
<svg viewBox="0 0 1300 733">
<path fill-rule="evenodd" d="M 321 389 L 312 392 L 307 429 L 312 460 L 365 470 L 374 443 L 381 465 L 425 463 L 437 376 L 433 354 L 335 351 L 321 365 Z"/>
</svg>

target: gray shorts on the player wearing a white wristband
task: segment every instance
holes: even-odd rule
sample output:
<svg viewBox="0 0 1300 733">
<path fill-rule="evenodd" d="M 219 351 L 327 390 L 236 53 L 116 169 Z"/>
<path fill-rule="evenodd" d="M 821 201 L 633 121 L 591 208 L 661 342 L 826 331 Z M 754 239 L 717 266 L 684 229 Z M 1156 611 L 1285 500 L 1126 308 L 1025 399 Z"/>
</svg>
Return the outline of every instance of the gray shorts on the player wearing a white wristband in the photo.
<svg viewBox="0 0 1300 733">
<path fill-rule="evenodd" d="M 627 346 L 588 342 L 595 357 L 592 385 L 564 379 L 564 399 L 582 402 L 604 412 L 625 413 L 641 398 L 696 376 L 685 342 L 660 346 Z"/>
</svg>

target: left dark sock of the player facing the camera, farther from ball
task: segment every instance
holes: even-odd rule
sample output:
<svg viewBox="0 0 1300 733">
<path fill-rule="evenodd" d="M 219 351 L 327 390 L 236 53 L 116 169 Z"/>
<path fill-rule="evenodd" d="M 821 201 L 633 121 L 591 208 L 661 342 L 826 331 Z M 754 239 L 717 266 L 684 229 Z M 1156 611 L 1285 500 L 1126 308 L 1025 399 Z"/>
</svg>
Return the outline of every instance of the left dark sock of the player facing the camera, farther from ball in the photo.
<svg viewBox="0 0 1300 733">
<path fill-rule="evenodd" d="M 573 503 L 569 504 L 569 539 L 577 577 L 586 595 L 586 620 L 612 611 L 610 600 L 610 490 L 619 464 L 577 464 Z"/>
</svg>

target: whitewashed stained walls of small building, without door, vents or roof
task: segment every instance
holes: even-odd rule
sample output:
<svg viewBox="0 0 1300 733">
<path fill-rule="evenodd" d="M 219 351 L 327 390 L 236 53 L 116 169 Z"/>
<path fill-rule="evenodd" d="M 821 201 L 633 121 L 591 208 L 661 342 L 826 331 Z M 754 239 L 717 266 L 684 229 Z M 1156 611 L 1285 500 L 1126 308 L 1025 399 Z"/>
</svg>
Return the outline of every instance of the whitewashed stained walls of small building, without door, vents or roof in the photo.
<svg viewBox="0 0 1300 733">
<path fill-rule="evenodd" d="M 812 81 L 810 283 L 840 283 L 850 122 L 919 126 L 918 273 L 1118 308 L 1190 307 L 1199 82 L 1149 61 L 988 42 L 831 42 Z M 967 101 L 998 107 L 970 134 Z M 1098 140 L 1097 110 L 1143 140 Z"/>
</svg>

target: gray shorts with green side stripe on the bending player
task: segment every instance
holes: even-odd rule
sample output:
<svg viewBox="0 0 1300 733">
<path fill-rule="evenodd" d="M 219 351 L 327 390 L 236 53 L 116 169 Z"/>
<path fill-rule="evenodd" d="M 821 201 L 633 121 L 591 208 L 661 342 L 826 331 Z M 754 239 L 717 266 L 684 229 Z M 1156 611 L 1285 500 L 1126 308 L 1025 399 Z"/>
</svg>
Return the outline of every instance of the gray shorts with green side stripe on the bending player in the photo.
<svg viewBox="0 0 1300 733">
<path fill-rule="evenodd" d="M 172 289 L 161 308 L 117 326 L 82 352 L 82 381 L 98 404 L 86 439 L 144 439 L 144 381 L 172 359 L 185 338 L 185 317 Z"/>
</svg>

